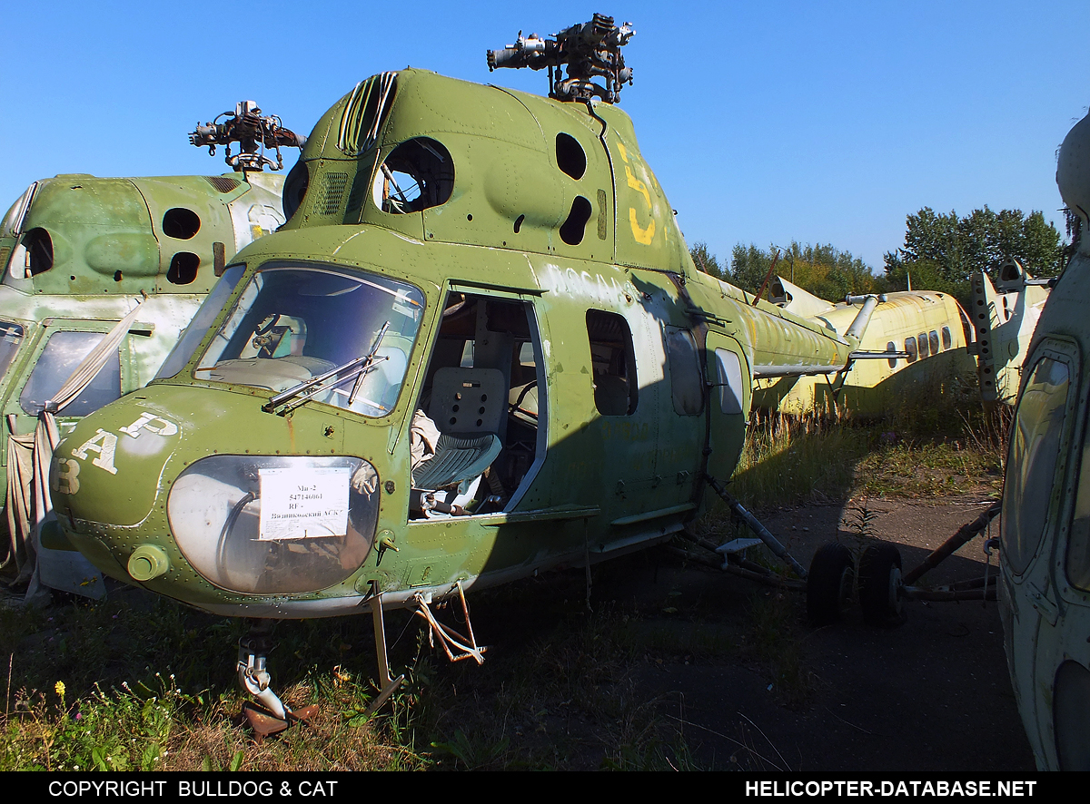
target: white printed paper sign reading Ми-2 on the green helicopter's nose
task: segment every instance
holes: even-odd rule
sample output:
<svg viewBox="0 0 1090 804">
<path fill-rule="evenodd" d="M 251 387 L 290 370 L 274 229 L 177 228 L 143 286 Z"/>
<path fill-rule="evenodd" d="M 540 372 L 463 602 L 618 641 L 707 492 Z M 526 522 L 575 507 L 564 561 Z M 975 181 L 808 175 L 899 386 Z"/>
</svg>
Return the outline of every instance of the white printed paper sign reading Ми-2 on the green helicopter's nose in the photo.
<svg viewBox="0 0 1090 804">
<path fill-rule="evenodd" d="M 258 538 L 265 541 L 348 534 L 350 470 L 264 468 Z"/>
</svg>

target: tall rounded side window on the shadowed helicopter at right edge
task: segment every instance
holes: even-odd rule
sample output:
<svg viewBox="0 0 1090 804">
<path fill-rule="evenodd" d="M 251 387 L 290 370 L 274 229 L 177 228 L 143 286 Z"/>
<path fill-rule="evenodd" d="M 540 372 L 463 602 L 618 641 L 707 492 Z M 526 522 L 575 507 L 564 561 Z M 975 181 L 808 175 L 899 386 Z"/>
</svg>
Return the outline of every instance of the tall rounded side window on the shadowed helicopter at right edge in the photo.
<svg viewBox="0 0 1090 804">
<path fill-rule="evenodd" d="M 1042 357 L 1015 411 L 1003 492 L 1003 551 L 1015 574 L 1029 567 L 1045 533 L 1069 386 L 1067 364 Z"/>
</svg>

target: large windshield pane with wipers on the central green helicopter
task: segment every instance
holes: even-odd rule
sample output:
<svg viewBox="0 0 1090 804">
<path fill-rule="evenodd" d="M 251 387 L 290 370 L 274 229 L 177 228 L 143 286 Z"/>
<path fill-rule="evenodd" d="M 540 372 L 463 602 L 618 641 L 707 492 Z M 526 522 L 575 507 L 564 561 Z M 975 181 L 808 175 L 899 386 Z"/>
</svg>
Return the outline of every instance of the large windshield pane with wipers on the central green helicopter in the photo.
<svg viewBox="0 0 1090 804">
<path fill-rule="evenodd" d="M 276 392 L 372 355 L 362 375 L 335 375 L 315 383 L 310 395 L 385 416 L 397 402 L 423 312 L 424 295 L 404 282 L 318 264 L 272 263 L 250 280 L 193 374 Z"/>
</svg>

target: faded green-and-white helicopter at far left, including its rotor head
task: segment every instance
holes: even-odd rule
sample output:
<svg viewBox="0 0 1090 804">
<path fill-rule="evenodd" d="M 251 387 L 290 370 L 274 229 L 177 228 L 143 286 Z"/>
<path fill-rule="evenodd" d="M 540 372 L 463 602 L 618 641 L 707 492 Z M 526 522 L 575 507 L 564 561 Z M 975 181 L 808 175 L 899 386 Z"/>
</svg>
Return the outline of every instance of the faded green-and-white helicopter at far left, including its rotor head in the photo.
<svg viewBox="0 0 1090 804">
<path fill-rule="evenodd" d="M 283 220 L 281 145 L 301 138 L 237 105 L 191 134 L 227 146 L 235 172 L 210 176 L 98 179 L 64 174 L 34 182 L 0 223 L 0 413 L 7 449 L 9 548 L 29 581 L 104 594 L 78 553 L 39 538 L 51 519 L 51 443 L 90 411 L 155 376 L 234 253 Z M 240 151 L 231 155 L 231 145 Z M 276 149 L 277 161 L 266 156 Z M 0 477 L 0 487 L 3 487 Z M 52 531 L 50 531 L 52 532 Z M 63 543 L 61 543 L 63 547 Z"/>
</svg>

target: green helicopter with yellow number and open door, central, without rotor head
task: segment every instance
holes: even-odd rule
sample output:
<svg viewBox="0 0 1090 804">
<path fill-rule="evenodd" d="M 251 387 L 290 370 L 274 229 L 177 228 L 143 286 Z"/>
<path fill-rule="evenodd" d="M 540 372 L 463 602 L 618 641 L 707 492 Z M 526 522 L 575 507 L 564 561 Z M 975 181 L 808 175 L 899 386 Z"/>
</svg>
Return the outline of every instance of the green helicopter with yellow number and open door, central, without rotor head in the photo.
<svg viewBox="0 0 1090 804">
<path fill-rule="evenodd" d="M 374 76 L 284 208 L 51 472 L 104 572 L 227 616 L 370 600 L 380 634 L 384 607 L 667 539 L 731 474 L 753 377 L 843 368 L 877 303 L 836 332 L 697 271 L 631 121 L 589 96 Z"/>
</svg>

